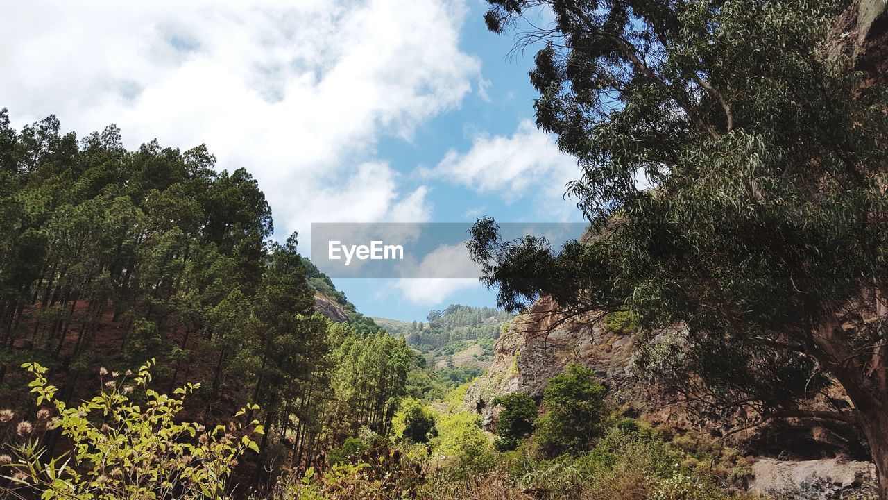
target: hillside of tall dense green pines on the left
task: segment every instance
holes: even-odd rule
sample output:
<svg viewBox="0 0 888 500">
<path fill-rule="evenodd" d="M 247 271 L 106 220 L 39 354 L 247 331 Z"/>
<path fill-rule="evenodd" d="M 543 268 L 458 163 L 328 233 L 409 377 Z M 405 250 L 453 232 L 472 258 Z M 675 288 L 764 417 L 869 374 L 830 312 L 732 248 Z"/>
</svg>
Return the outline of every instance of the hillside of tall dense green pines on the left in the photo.
<svg viewBox="0 0 888 500">
<path fill-rule="evenodd" d="M 361 426 L 388 431 L 412 351 L 318 275 L 295 234 L 271 238 L 250 173 L 214 164 L 202 146 L 127 150 L 114 126 L 78 138 L 49 117 L 18 132 L 0 112 L 4 407 L 28 415 L 25 361 L 76 402 L 99 367 L 156 359 L 159 389 L 202 383 L 186 413 L 208 427 L 259 405 L 259 460 L 242 467 L 257 481 L 263 463 L 312 464 Z M 314 312 L 319 288 L 346 323 Z"/>
</svg>

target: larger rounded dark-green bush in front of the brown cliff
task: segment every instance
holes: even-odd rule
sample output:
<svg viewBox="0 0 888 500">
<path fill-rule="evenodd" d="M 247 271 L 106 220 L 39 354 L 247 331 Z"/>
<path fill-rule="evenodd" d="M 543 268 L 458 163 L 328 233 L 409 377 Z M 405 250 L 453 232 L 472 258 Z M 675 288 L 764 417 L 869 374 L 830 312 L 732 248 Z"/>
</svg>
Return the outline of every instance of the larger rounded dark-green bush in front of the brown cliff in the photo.
<svg viewBox="0 0 888 500">
<path fill-rule="evenodd" d="M 546 383 L 545 414 L 534 423 L 534 438 L 551 455 L 587 451 L 604 431 L 605 389 L 590 368 L 570 363 Z"/>
</svg>

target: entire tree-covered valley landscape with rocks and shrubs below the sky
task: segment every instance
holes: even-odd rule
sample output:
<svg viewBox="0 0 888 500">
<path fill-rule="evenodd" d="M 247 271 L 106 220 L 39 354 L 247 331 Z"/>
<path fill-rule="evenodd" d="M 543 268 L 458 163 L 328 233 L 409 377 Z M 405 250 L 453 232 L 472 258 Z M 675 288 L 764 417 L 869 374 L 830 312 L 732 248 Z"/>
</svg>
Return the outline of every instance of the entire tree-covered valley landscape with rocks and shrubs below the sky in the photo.
<svg viewBox="0 0 888 500">
<path fill-rule="evenodd" d="M 884 1 L 485 8 L 588 223 L 477 215 L 497 308 L 365 316 L 252 165 L 7 103 L 0 498 L 888 500 Z"/>
</svg>

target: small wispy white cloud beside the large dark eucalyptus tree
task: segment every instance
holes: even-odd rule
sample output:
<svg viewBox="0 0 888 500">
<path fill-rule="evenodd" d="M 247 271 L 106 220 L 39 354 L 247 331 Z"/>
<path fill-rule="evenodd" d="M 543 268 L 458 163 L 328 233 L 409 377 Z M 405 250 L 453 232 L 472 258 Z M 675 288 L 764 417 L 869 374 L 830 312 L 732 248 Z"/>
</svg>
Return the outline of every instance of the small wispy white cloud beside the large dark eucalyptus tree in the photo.
<svg viewBox="0 0 888 500">
<path fill-rule="evenodd" d="M 438 165 L 420 173 L 496 194 L 506 203 L 529 197 L 547 214 L 575 211 L 562 197 L 565 184 L 579 175 L 576 159 L 560 152 L 551 136 L 527 119 L 511 136 L 476 134 L 467 152 L 450 149 Z"/>
</svg>

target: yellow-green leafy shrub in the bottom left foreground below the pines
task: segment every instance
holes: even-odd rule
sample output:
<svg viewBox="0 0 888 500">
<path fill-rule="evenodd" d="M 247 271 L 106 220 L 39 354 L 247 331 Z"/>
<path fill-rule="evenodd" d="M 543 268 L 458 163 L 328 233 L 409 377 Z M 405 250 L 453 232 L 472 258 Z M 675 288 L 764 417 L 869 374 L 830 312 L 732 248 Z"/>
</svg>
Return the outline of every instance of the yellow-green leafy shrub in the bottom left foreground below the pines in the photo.
<svg viewBox="0 0 888 500">
<path fill-rule="evenodd" d="M 70 446 L 60 456 L 46 456 L 33 426 L 19 423 L 25 440 L 12 448 L 12 463 L 5 465 L 13 470 L 3 476 L 12 481 L 7 490 L 37 490 L 44 500 L 226 498 L 237 458 L 248 449 L 258 451 L 250 436 L 262 434 L 262 426 L 254 420 L 248 426 L 232 422 L 207 430 L 200 423 L 177 422 L 184 399 L 200 384 L 187 383 L 173 396 L 159 394 L 147 387 L 154 365 L 151 359 L 134 377 L 127 371 L 107 380 L 101 368 L 102 391 L 75 407 L 55 398 L 57 388 L 47 381 L 45 367 L 22 365 L 35 376 L 29 386 L 37 405 L 55 409 L 46 430 L 58 430 Z M 139 402 L 133 400 L 137 395 Z M 256 409 L 250 405 L 235 418 Z M 41 413 L 48 417 L 45 408 Z"/>
</svg>

